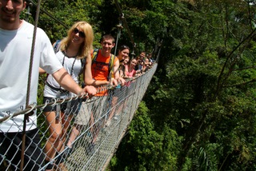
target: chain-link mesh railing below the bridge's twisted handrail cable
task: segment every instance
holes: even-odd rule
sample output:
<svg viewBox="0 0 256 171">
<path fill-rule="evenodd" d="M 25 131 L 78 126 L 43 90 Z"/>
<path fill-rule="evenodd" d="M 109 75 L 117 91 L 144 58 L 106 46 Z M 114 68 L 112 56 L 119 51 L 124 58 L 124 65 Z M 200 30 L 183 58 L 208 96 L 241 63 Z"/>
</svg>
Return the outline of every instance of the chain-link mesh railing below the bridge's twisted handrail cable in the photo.
<svg viewBox="0 0 256 171">
<path fill-rule="evenodd" d="M 30 120 L 30 125 L 37 126 L 38 129 L 34 129 L 34 131 L 38 131 L 40 138 L 37 141 L 31 141 L 26 137 L 25 150 L 30 149 L 28 148 L 30 145 L 38 146 L 39 150 L 25 154 L 24 157 L 28 161 L 24 162 L 23 170 L 27 170 L 29 165 L 32 170 L 46 170 L 48 165 L 54 165 L 56 170 L 106 169 L 120 141 L 122 141 L 122 137 L 126 134 L 126 129 L 146 93 L 157 66 L 155 63 L 146 73 L 134 79 L 126 80 L 126 85 L 109 88 L 107 94 L 102 97 L 94 96 L 86 99 L 77 96 L 63 100 L 55 99 L 54 101 L 46 101 L 45 104 L 41 105 L 32 104 L 28 109 L 18 109 L 18 113 L 14 113 L 12 116 L 0 117 L 1 126 L 14 117 L 23 116 L 25 113 L 37 109 L 37 120 Z M 74 101 L 78 101 L 79 105 L 72 105 Z M 59 105 L 70 105 L 70 107 L 66 107 L 65 112 L 62 113 L 58 110 Z M 56 106 L 58 117 L 54 121 L 62 121 L 62 128 L 59 130 L 53 130 L 51 124 L 47 124 L 47 116 L 43 112 L 44 108 L 53 108 L 54 106 Z M 71 111 L 78 112 L 71 114 Z M 12 123 L 15 125 L 14 121 Z M 22 126 L 17 125 L 17 127 L 22 132 Z M 59 133 L 60 130 L 62 133 Z M 18 133 L 14 133 L 12 137 L 5 136 L 6 133 L 2 134 L 2 141 L 9 141 L 10 146 L 16 148 L 4 148 L 2 143 L 0 144 L 0 169 L 19 170 L 22 159 L 10 157 L 10 155 L 15 156 L 14 154 L 21 150 L 20 144 L 15 144 Z M 49 144 L 50 138 L 55 138 L 52 144 Z M 72 148 L 68 148 L 68 143 Z M 49 151 L 46 151 L 47 145 L 50 145 Z M 50 151 L 54 153 L 54 157 L 46 163 L 46 154 Z M 8 155 L 9 157 L 7 157 Z"/>
</svg>

